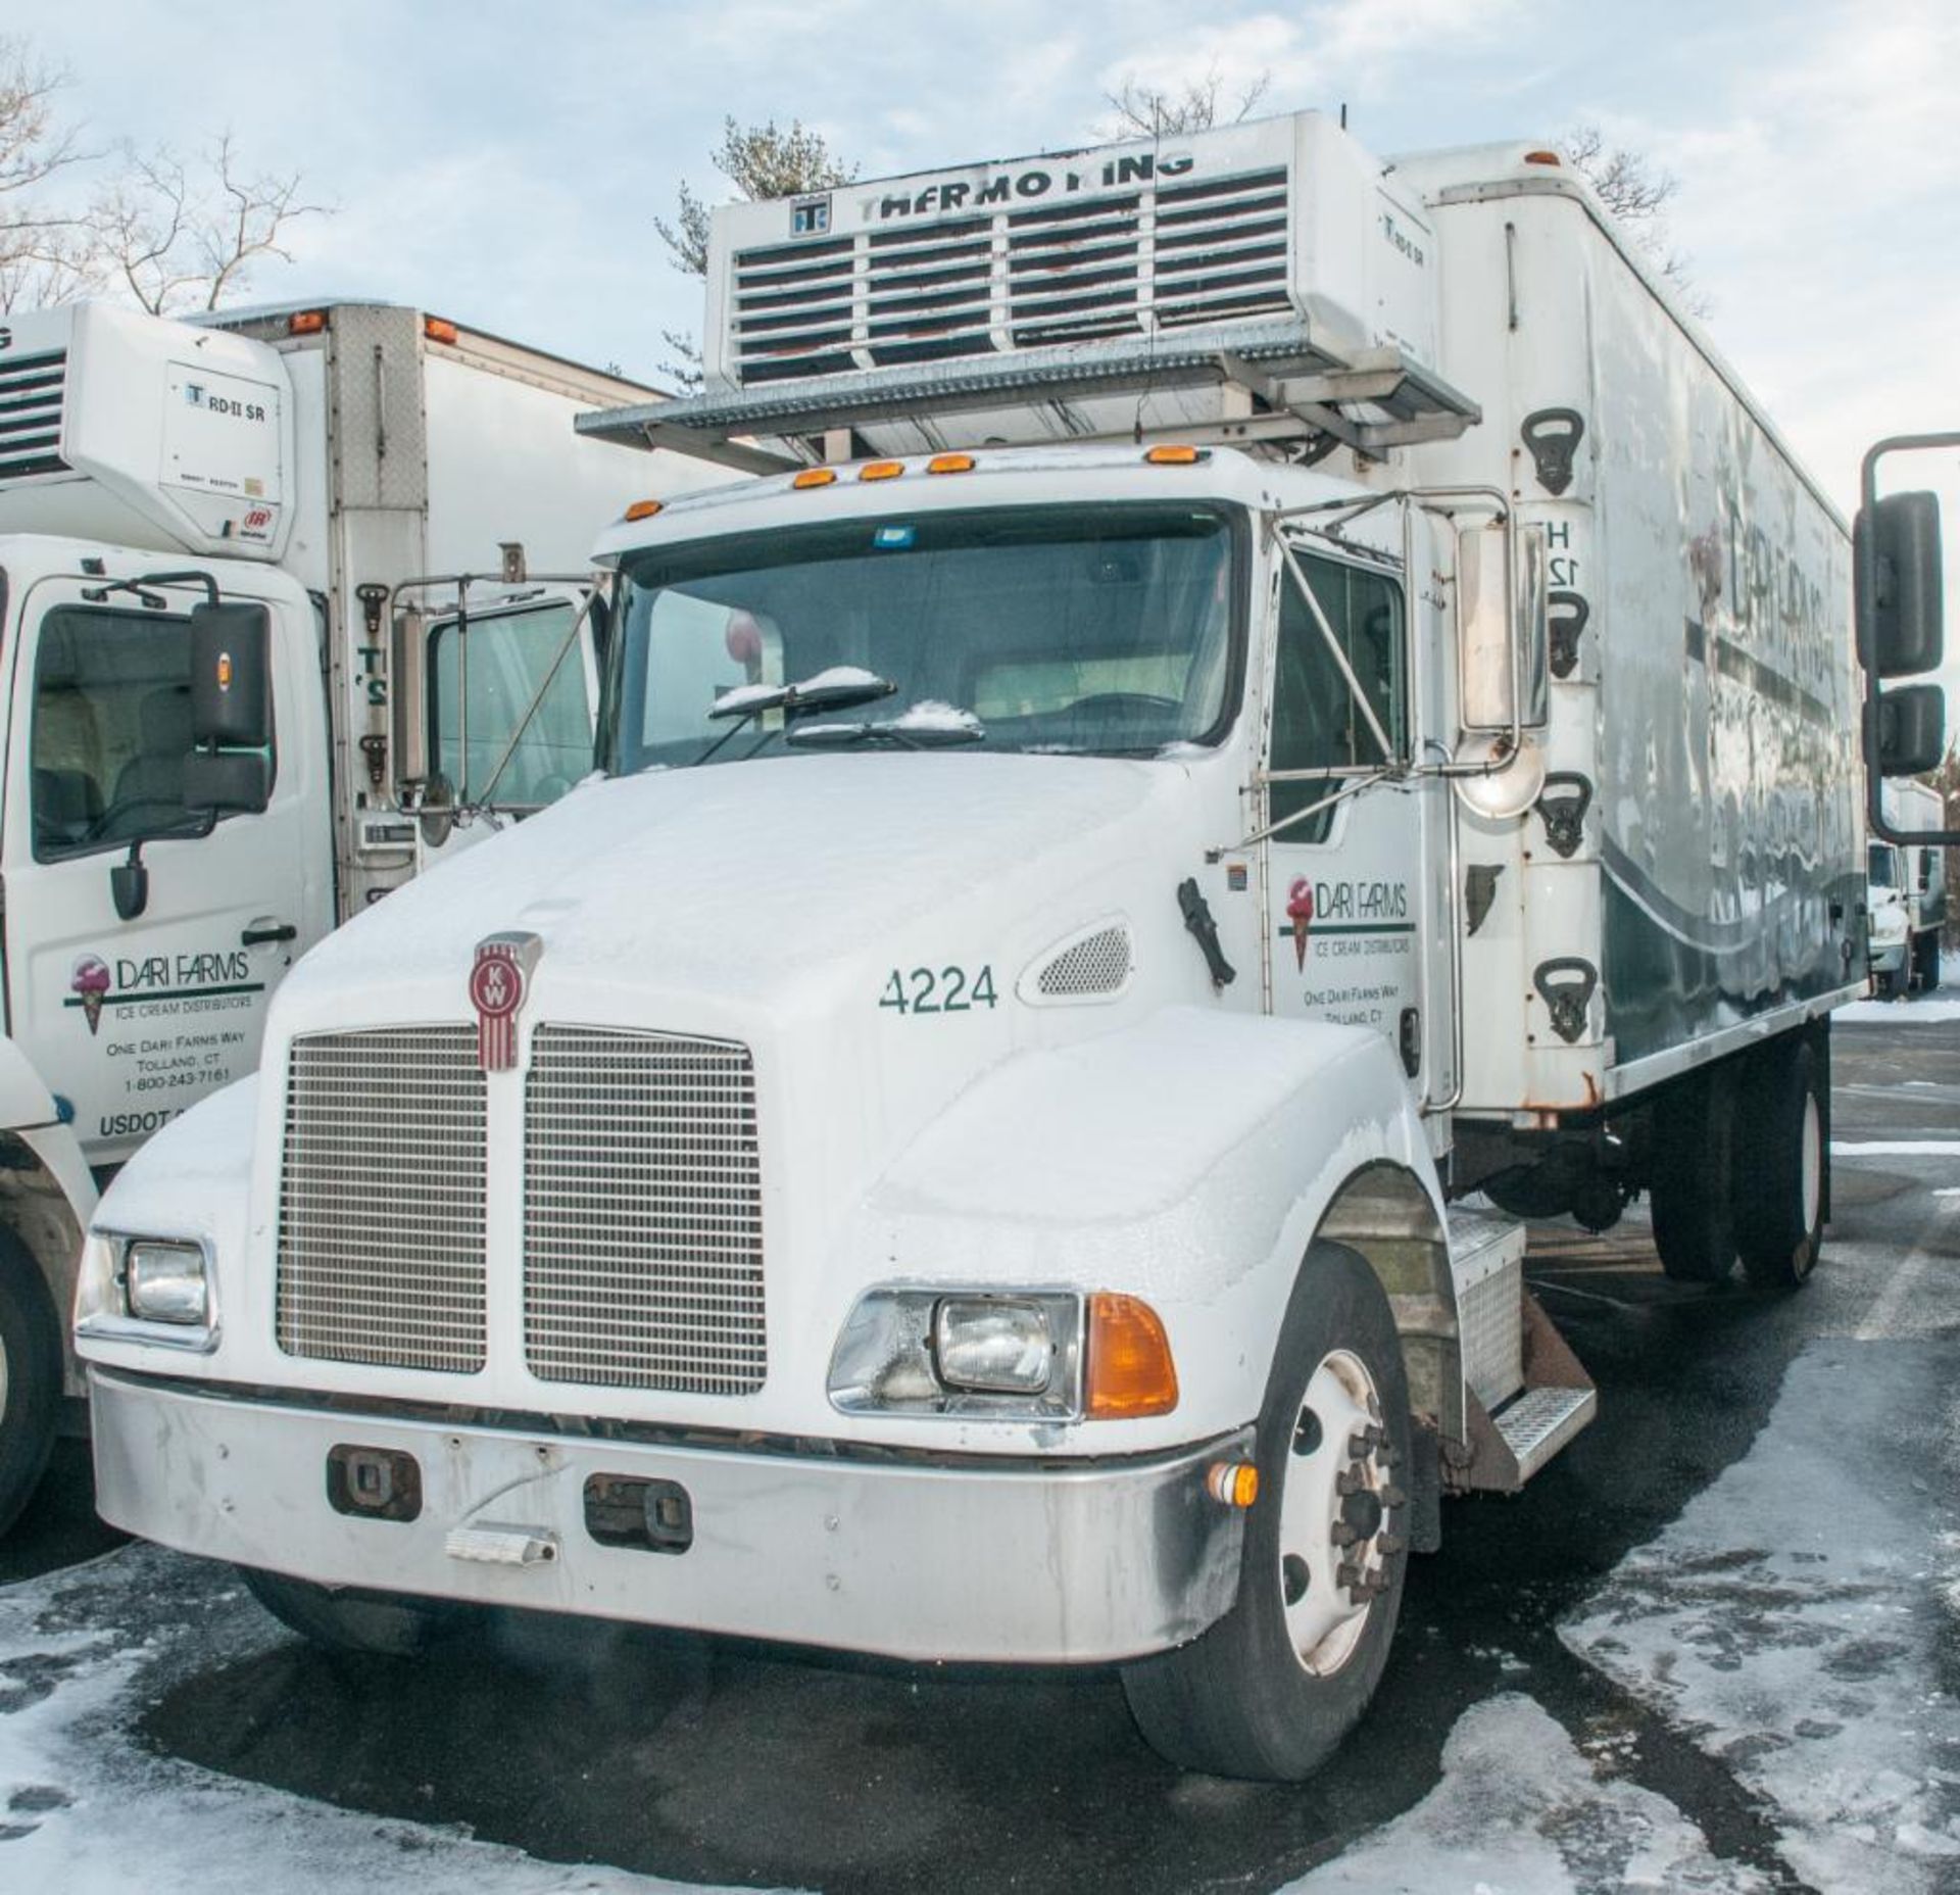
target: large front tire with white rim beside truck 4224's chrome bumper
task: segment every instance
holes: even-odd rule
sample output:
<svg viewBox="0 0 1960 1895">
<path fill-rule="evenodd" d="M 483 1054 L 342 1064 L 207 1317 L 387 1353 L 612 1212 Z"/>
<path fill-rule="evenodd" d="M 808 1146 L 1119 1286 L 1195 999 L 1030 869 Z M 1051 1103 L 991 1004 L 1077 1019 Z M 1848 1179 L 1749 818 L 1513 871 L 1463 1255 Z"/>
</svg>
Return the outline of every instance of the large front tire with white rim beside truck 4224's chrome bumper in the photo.
<svg viewBox="0 0 1960 1895">
<path fill-rule="evenodd" d="M 1348 1452 L 1354 1440 L 1360 1454 Z M 1374 1697 L 1396 1634 L 1407 1468 L 1409 1393 L 1388 1297 L 1360 1256 L 1317 1242 L 1258 1415 L 1239 1597 L 1192 1644 L 1123 1668 L 1131 1715 L 1158 1756 L 1298 1783 L 1335 1754 Z M 1339 1495 L 1337 1480 L 1354 1476 L 1360 1491 Z M 1347 1572 L 1362 1583 L 1341 1583 Z"/>
</svg>

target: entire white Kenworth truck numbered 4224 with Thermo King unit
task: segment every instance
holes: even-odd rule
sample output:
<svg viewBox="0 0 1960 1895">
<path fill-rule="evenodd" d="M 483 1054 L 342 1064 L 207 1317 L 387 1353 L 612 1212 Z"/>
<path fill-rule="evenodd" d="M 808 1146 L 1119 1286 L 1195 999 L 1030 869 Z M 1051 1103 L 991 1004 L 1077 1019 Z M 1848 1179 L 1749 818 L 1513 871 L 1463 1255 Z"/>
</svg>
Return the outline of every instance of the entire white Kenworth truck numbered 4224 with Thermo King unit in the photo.
<svg viewBox="0 0 1960 1895">
<path fill-rule="evenodd" d="M 580 427 L 776 472 L 604 533 L 596 780 L 104 1199 L 100 1507 L 327 1640 L 1119 1662 L 1299 1777 L 1592 1417 L 1492 1201 L 1817 1258 L 1844 527 L 1550 151 L 849 184 L 711 282 Z"/>
</svg>

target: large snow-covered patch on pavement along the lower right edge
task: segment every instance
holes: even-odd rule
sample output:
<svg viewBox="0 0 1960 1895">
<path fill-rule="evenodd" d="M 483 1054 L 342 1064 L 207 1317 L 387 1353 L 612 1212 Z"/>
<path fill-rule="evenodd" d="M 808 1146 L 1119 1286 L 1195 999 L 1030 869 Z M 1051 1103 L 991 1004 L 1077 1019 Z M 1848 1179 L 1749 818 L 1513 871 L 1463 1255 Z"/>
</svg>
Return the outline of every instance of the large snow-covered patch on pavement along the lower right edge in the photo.
<svg viewBox="0 0 1960 1895">
<path fill-rule="evenodd" d="M 1960 1885 L 1956 1366 L 1950 1340 L 1813 1344 L 1750 1452 L 1562 1628 L 1833 1895 Z"/>
</svg>

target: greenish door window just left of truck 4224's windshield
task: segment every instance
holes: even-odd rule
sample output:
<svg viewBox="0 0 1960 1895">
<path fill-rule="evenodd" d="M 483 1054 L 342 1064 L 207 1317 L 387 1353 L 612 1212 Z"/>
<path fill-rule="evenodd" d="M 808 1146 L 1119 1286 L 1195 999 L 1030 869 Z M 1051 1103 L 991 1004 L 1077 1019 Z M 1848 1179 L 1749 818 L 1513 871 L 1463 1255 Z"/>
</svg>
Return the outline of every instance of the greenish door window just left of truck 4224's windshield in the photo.
<svg viewBox="0 0 1960 1895">
<path fill-rule="evenodd" d="M 570 600 L 553 600 L 523 611 L 472 613 L 463 637 L 455 619 L 429 633 L 429 754 L 459 798 L 490 790 L 512 731 L 533 700 L 537 713 L 496 776 L 492 800 L 541 809 L 592 768 L 584 647 L 576 639 L 570 649 L 564 645 L 576 609 Z M 470 647 L 468 754 L 459 707 L 465 639 Z"/>
</svg>

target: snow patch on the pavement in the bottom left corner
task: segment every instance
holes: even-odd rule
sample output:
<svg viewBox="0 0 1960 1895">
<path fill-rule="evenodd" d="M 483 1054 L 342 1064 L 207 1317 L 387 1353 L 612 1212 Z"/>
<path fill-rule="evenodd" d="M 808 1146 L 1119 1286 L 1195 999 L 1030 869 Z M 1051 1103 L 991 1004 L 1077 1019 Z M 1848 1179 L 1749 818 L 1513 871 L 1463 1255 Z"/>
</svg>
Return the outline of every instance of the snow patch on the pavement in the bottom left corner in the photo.
<svg viewBox="0 0 1960 1895">
<path fill-rule="evenodd" d="M 178 1677 L 288 1634 L 221 1570 L 153 1546 L 0 1589 L 0 1889 L 61 1895 L 659 1895 L 466 1830 L 331 1809 L 143 1748 Z"/>
</svg>

